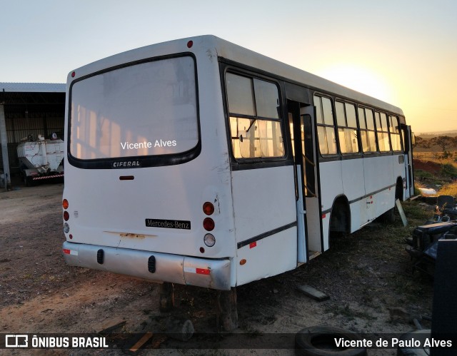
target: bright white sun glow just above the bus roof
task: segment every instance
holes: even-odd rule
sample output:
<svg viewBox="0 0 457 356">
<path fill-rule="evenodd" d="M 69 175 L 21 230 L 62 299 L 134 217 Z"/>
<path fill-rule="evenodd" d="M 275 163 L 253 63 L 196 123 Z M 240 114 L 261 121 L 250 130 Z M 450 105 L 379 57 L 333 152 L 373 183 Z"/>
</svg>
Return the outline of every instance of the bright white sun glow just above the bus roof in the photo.
<svg viewBox="0 0 457 356">
<path fill-rule="evenodd" d="M 393 99 L 391 88 L 383 76 L 363 66 L 338 63 L 322 68 L 317 74 L 330 81 L 388 103 Z"/>
</svg>

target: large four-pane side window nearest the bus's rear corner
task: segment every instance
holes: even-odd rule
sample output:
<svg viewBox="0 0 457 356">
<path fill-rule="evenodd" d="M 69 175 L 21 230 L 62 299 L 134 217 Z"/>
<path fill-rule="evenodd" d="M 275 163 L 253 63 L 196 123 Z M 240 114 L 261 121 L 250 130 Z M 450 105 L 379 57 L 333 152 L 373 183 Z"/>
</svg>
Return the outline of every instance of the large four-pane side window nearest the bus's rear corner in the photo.
<svg viewBox="0 0 457 356">
<path fill-rule="evenodd" d="M 284 156 L 278 87 L 226 73 L 231 145 L 235 158 Z"/>
</svg>

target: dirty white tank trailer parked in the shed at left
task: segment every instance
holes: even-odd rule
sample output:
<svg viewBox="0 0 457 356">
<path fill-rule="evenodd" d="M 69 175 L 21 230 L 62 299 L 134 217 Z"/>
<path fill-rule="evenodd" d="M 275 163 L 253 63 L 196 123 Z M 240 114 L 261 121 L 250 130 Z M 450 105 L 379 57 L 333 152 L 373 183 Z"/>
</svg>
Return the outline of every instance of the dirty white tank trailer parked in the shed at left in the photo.
<svg viewBox="0 0 457 356">
<path fill-rule="evenodd" d="M 27 186 L 41 180 L 64 178 L 64 141 L 59 138 L 48 140 L 39 135 L 33 141 L 29 136 L 17 146 L 19 169 Z"/>
</svg>

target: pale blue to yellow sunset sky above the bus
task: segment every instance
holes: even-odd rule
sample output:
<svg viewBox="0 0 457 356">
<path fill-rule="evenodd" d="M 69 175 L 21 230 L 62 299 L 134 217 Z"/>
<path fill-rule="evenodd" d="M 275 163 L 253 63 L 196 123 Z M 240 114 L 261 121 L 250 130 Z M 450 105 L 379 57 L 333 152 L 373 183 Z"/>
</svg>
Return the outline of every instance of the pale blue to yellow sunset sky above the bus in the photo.
<svg viewBox="0 0 457 356">
<path fill-rule="evenodd" d="M 416 133 L 457 130 L 455 0 L 0 0 L 0 81 L 69 71 L 201 34 L 403 109 Z"/>
</svg>

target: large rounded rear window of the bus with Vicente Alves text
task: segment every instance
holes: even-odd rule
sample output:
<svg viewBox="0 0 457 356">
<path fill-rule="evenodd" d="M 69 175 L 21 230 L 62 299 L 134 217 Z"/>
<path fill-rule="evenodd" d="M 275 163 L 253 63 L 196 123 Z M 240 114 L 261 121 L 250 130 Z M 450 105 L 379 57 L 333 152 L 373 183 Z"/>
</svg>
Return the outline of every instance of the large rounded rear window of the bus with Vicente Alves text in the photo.
<svg viewBox="0 0 457 356">
<path fill-rule="evenodd" d="M 80 160 L 184 153 L 199 143 L 194 59 L 182 56 L 73 84 L 69 150 Z"/>
</svg>

